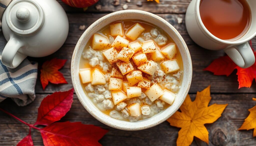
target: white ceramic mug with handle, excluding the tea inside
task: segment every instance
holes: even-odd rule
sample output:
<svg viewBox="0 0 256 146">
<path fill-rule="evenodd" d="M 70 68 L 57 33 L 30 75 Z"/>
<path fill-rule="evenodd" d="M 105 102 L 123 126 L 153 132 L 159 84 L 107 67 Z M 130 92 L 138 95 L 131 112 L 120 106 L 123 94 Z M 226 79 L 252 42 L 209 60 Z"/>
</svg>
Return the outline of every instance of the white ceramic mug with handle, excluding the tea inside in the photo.
<svg viewBox="0 0 256 146">
<path fill-rule="evenodd" d="M 256 1 L 247 0 L 251 9 L 251 24 L 246 34 L 235 41 L 219 39 L 207 30 L 200 17 L 200 2 L 201 0 L 192 0 L 186 12 L 186 27 L 192 40 L 209 50 L 223 49 L 241 68 L 253 65 L 255 57 L 248 41 L 256 36 Z"/>
</svg>

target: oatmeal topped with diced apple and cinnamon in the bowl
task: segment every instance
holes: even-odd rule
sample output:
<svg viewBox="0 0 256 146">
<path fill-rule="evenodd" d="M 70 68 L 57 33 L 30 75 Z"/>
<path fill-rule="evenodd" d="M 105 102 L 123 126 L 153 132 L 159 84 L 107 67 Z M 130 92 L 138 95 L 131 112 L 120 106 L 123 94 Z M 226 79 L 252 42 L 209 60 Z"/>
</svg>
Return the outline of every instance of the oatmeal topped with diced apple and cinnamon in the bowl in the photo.
<svg viewBox="0 0 256 146">
<path fill-rule="evenodd" d="M 173 104 L 182 84 L 183 64 L 177 46 L 162 29 L 125 20 L 92 36 L 79 75 L 85 93 L 100 111 L 136 122 Z"/>
</svg>

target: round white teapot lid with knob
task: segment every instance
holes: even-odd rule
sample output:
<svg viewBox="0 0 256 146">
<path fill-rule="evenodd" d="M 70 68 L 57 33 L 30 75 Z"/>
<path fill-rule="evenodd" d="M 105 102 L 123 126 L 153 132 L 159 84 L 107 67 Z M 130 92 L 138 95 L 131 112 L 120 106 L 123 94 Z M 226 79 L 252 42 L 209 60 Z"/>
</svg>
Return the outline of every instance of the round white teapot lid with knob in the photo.
<svg viewBox="0 0 256 146">
<path fill-rule="evenodd" d="M 18 35 L 31 36 L 41 29 L 45 16 L 35 0 L 14 0 L 6 9 L 5 19 L 8 27 Z"/>
</svg>

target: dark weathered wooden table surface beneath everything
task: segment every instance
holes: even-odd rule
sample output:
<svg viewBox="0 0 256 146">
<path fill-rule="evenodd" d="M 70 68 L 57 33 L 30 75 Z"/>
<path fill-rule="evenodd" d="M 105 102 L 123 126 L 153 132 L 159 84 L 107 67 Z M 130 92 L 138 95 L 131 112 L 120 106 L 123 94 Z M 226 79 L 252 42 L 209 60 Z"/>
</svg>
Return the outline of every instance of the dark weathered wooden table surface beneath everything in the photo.
<svg viewBox="0 0 256 146">
<path fill-rule="evenodd" d="M 206 124 L 209 131 L 209 145 L 215 146 L 236 146 L 236 145 L 256 145 L 256 138 L 253 138 L 253 130 L 237 129 L 242 125 L 244 119 L 248 116 L 249 108 L 255 106 L 252 98 L 255 97 L 256 83 L 253 81 L 251 88 L 238 89 L 237 75 L 234 71 L 229 77 L 215 76 L 210 72 L 203 71 L 214 59 L 223 56 L 223 51 L 210 51 L 196 45 L 189 37 L 185 27 L 185 13 L 191 0 L 160 0 L 161 3 L 146 2 L 146 0 L 131 0 L 126 3 L 120 0 L 119 6 L 113 6 L 113 0 L 100 0 L 97 4 L 102 7 L 100 10 L 95 9 L 95 5 L 88 8 L 86 12 L 82 9 L 72 8 L 58 0 L 66 10 L 69 18 L 69 35 L 65 44 L 56 53 L 36 59 L 39 66 L 46 60 L 52 58 L 67 59 L 67 63 L 60 70 L 65 76 L 68 84 L 53 85 L 49 84 L 45 91 L 42 89 L 39 79 L 36 84 L 36 99 L 33 103 L 18 107 L 11 99 L 6 99 L 0 103 L 0 107 L 16 115 L 20 119 L 33 124 L 37 119 L 37 108 L 42 99 L 48 94 L 56 91 L 66 91 L 72 88 L 70 76 L 71 56 L 76 43 L 83 31 L 79 30 L 80 25 L 90 26 L 100 17 L 122 10 L 122 5 L 127 4 L 128 9 L 145 10 L 154 13 L 172 24 L 182 35 L 189 48 L 193 62 L 193 79 L 189 95 L 192 100 L 195 99 L 196 92 L 201 91 L 208 85 L 211 85 L 211 104 L 229 104 L 223 112 L 221 118 L 212 124 Z M 138 7 L 136 3 L 141 1 L 143 6 Z M 183 18 L 181 24 L 177 23 L 177 18 Z M 59 24 L 61 25 L 61 24 Z M 253 47 L 256 48 L 256 38 L 252 40 Z M 39 76 L 38 76 L 39 78 Z M 71 110 L 61 121 L 81 121 L 84 124 L 94 124 L 109 132 L 100 140 L 102 145 L 120 146 L 120 145 L 176 145 L 179 128 L 171 127 L 167 121 L 146 130 L 141 131 L 123 131 L 104 125 L 93 118 L 80 104 L 77 96 L 74 94 L 74 102 Z M 29 128 L 13 119 L 12 117 L 0 112 L 0 145 L 16 145 L 21 139 L 28 134 Z M 32 130 L 34 145 L 43 145 L 40 133 Z M 207 145 L 201 140 L 195 138 L 192 145 Z"/>
</svg>

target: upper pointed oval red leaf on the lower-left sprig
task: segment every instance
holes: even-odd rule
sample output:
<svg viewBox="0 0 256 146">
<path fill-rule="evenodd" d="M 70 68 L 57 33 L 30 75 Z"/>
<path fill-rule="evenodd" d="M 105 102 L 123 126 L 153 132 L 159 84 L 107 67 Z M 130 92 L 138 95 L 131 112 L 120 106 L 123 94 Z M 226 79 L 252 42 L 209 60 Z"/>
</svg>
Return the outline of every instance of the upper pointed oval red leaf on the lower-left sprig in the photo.
<svg viewBox="0 0 256 146">
<path fill-rule="evenodd" d="M 49 125 L 60 120 L 71 108 L 74 89 L 55 92 L 46 96 L 38 108 L 37 121 L 34 125 Z"/>
</svg>

